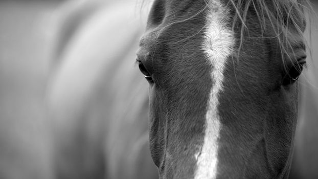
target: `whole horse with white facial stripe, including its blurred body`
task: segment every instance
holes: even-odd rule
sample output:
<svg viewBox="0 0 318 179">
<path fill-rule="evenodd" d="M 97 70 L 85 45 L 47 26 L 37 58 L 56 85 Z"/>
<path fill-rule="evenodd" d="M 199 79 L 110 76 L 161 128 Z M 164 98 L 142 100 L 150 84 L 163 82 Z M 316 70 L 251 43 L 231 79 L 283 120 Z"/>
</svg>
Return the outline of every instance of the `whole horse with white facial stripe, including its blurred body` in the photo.
<svg viewBox="0 0 318 179">
<path fill-rule="evenodd" d="M 288 178 L 307 5 L 156 0 L 145 79 L 127 65 L 143 31 L 131 6 L 69 19 L 48 92 L 58 178 Z"/>
</svg>

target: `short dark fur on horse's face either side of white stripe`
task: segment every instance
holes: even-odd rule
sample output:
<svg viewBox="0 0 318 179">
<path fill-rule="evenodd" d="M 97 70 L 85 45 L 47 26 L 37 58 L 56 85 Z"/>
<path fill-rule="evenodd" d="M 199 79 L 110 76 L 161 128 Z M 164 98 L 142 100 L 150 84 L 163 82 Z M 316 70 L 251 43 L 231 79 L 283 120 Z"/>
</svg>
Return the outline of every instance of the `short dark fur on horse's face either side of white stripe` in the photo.
<svg viewBox="0 0 318 179">
<path fill-rule="evenodd" d="M 225 64 L 216 178 L 288 177 L 298 82 L 283 83 L 306 57 L 306 1 L 221 1 L 234 52 Z M 150 150 L 161 178 L 192 178 L 215 85 L 198 49 L 209 2 L 154 1 L 139 60 L 150 83 Z M 232 59 L 232 61 L 231 61 Z M 286 77 L 287 76 L 287 77 Z"/>
</svg>

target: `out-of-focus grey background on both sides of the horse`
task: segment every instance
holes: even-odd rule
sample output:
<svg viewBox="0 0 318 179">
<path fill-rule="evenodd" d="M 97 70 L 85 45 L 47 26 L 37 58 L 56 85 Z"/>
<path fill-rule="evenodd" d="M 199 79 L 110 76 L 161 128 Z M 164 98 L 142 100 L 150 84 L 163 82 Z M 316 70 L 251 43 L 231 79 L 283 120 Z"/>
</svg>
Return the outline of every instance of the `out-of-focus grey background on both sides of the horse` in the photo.
<svg viewBox="0 0 318 179">
<path fill-rule="evenodd" d="M 317 2 L 312 3 L 315 3 L 313 7 L 318 12 Z M 105 4 L 112 6 L 110 2 Z M 65 35 L 63 38 L 70 35 L 69 32 L 61 32 L 60 27 L 65 23 L 65 14 L 72 9 L 72 3 L 63 0 L 0 1 L 1 179 L 52 178 L 52 129 L 48 121 L 45 93 L 50 87 L 47 82 L 58 66 L 52 57 L 62 47 L 62 44 L 58 47 L 54 44 L 62 38 L 59 36 L 62 33 Z M 303 109 L 300 116 L 306 118 L 306 115 L 310 115 L 312 123 L 306 126 L 305 120 L 301 119 L 299 125 L 307 127 L 307 130 L 304 135 L 297 136 L 300 142 L 296 142 L 296 145 L 317 146 L 318 28 L 314 16 L 311 36 L 308 29 L 306 38 L 311 56 L 308 58 L 308 70 L 302 77 L 301 105 L 310 111 Z M 304 131 L 298 129 L 297 132 Z M 317 155 L 306 151 L 303 153 L 297 160 L 311 160 L 310 164 L 313 165 L 299 167 L 318 172 Z"/>
</svg>

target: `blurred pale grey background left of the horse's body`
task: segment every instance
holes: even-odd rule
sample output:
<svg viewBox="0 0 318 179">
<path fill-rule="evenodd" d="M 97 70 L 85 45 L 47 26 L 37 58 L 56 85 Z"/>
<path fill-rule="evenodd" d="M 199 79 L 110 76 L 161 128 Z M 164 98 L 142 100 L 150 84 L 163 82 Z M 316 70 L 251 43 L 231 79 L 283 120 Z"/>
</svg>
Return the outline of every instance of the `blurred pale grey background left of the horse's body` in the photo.
<svg viewBox="0 0 318 179">
<path fill-rule="evenodd" d="M 56 2 L 0 2 L 0 178 L 52 179 L 44 103 Z"/>
</svg>

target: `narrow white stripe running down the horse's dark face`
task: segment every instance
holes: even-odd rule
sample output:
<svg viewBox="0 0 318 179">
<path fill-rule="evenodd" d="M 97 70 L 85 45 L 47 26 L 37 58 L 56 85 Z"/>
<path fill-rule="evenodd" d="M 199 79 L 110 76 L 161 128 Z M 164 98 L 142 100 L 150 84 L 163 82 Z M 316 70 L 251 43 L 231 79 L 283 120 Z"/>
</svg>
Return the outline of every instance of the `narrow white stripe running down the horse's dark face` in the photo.
<svg viewBox="0 0 318 179">
<path fill-rule="evenodd" d="M 220 131 L 220 117 L 218 115 L 218 96 L 222 91 L 223 70 L 226 58 L 232 52 L 233 34 L 224 24 L 228 11 L 216 0 L 209 3 L 207 14 L 206 39 L 202 49 L 212 65 L 213 86 L 210 91 L 209 108 L 206 114 L 206 130 L 201 151 L 195 154 L 197 168 L 195 179 L 214 179 L 217 175 L 217 152 Z"/>
</svg>

